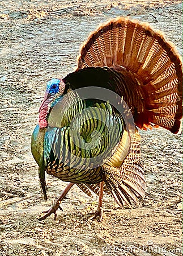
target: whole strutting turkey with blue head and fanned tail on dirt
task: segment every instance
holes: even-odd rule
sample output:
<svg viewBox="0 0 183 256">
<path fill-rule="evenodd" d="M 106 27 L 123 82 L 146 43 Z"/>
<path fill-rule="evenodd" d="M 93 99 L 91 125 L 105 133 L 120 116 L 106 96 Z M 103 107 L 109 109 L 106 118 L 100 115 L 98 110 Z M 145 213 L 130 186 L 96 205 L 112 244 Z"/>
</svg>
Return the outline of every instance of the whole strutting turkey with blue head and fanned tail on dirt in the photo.
<svg viewBox="0 0 183 256">
<path fill-rule="evenodd" d="M 48 82 L 32 134 L 44 199 L 45 172 L 69 182 L 39 220 L 56 218 L 74 184 L 99 195 L 99 221 L 104 192 L 120 207 L 137 204 L 146 191 L 138 129 L 181 128 L 181 57 L 148 23 L 109 20 L 88 36 L 77 62 L 74 72 Z"/>
</svg>

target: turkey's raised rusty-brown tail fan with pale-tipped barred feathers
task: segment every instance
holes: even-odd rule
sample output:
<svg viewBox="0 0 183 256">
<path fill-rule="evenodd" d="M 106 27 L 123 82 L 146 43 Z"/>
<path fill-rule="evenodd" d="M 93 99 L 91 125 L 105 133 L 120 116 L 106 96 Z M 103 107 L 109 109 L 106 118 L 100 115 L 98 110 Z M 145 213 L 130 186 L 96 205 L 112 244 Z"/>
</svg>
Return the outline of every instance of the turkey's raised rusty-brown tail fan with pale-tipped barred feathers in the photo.
<svg viewBox="0 0 183 256">
<path fill-rule="evenodd" d="M 80 48 L 78 69 L 124 67 L 138 80 L 143 112 L 136 125 L 178 133 L 182 118 L 182 61 L 175 46 L 148 23 L 118 17 L 93 31 Z"/>
</svg>

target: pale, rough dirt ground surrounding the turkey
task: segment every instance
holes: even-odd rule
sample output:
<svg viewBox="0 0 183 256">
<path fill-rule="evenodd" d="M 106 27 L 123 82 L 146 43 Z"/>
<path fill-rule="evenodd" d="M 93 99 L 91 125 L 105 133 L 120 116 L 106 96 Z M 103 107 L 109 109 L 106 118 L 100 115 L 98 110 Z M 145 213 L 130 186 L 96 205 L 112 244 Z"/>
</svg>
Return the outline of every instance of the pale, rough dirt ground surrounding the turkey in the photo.
<svg viewBox="0 0 183 256">
<path fill-rule="evenodd" d="M 104 196 L 102 222 L 88 220 L 97 196 L 74 186 L 63 212 L 39 222 L 66 183 L 49 175 L 44 201 L 30 139 L 46 81 L 73 71 L 98 24 L 127 15 L 164 31 L 182 54 L 182 1 L 6 1 L 0 3 L 0 255 L 182 255 L 182 135 L 141 132 L 144 200 L 120 209 Z"/>
</svg>

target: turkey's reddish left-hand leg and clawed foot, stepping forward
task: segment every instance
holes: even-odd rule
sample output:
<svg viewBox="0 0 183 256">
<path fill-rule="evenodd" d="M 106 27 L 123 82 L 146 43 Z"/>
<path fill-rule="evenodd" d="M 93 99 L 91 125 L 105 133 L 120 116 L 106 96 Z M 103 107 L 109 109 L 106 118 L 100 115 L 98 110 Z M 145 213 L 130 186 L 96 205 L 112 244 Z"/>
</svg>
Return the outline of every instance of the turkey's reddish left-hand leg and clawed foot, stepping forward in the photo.
<svg viewBox="0 0 183 256">
<path fill-rule="evenodd" d="M 64 189 L 64 191 L 61 193 L 61 195 L 58 197 L 57 201 L 53 204 L 52 208 L 49 210 L 45 210 L 42 213 L 46 213 L 44 216 L 40 217 L 38 220 L 45 220 L 48 216 L 50 216 L 52 213 L 54 213 L 54 220 L 56 220 L 57 217 L 57 210 L 58 208 L 62 210 L 59 203 L 62 201 L 62 199 L 67 195 L 67 193 L 70 191 L 71 187 L 73 187 L 74 183 L 69 183 L 67 187 Z"/>
</svg>

